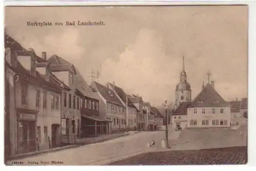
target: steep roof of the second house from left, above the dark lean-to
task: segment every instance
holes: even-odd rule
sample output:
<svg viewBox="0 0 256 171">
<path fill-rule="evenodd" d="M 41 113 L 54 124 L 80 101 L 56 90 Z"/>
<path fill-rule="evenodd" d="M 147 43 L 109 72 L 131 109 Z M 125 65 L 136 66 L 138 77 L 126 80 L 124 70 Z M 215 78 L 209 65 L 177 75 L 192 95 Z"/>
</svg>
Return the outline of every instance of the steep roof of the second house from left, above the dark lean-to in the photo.
<svg viewBox="0 0 256 171">
<path fill-rule="evenodd" d="M 81 92 L 83 96 L 99 100 L 99 98 L 92 92 L 87 82 L 83 79 L 78 69 L 73 66 L 72 63 L 57 55 L 52 55 L 48 61 L 51 63 L 51 71 L 70 71 L 71 69 L 74 70 L 74 73 L 77 76 L 77 79 L 75 80 L 75 88 Z"/>
</svg>

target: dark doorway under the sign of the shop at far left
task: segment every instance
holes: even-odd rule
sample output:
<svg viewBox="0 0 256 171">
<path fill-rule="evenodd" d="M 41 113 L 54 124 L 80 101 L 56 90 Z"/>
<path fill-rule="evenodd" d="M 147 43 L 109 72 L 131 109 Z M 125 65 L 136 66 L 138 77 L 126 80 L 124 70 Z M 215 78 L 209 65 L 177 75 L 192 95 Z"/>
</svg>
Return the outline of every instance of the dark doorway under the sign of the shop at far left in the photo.
<svg viewBox="0 0 256 171">
<path fill-rule="evenodd" d="M 18 154 L 36 151 L 35 124 L 35 121 L 18 121 Z"/>
</svg>

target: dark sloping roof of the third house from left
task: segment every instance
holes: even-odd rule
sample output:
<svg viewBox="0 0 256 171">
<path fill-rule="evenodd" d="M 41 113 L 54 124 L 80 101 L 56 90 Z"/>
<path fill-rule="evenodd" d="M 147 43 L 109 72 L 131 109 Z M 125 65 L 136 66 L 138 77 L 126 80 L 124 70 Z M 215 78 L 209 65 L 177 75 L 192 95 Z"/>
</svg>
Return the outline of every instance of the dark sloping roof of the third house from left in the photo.
<svg viewBox="0 0 256 171">
<path fill-rule="evenodd" d="M 98 92 L 101 94 L 101 96 L 104 97 L 107 102 L 119 106 L 124 106 L 122 102 L 119 100 L 119 98 L 116 96 L 116 94 L 110 88 L 107 88 L 96 81 L 93 81 L 91 83 L 91 87 L 96 88 Z"/>
</svg>

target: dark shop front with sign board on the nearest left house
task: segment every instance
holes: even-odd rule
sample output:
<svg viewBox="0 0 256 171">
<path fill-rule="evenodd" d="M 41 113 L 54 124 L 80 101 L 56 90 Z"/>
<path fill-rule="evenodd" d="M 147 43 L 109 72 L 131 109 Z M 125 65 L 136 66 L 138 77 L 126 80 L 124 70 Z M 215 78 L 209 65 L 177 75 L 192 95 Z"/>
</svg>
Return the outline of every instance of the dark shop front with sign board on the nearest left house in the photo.
<svg viewBox="0 0 256 171">
<path fill-rule="evenodd" d="M 35 152 L 37 150 L 36 120 L 37 113 L 17 112 L 16 154 Z"/>
</svg>

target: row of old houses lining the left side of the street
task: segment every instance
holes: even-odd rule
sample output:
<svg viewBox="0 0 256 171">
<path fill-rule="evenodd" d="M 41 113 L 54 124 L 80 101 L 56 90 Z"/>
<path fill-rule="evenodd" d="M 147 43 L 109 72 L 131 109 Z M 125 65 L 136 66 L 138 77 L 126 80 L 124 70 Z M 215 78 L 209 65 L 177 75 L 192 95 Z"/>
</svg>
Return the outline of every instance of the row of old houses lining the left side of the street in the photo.
<svg viewBox="0 0 256 171">
<path fill-rule="evenodd" d="M 5 34 L 5 156 L 61 146 L 61 137 L 153 131 L 160 112 L 115 82 L 83 79 L 73 63 L 38 56 Z"/>
</svg>

